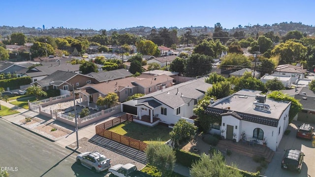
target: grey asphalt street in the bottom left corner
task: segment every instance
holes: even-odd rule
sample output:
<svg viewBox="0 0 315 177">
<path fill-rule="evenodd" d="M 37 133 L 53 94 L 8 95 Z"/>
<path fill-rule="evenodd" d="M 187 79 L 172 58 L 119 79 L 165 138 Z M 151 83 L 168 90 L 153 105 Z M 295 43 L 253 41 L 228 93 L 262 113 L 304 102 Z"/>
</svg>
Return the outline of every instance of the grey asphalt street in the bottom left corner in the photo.
<svg viewBox="0 0 315 177">
<path fill-rule="evenodd" d="M 0 118 L 0 170 L 10 177 L 105 177 L 75 163 L 77 153 Z"/>
</svg>

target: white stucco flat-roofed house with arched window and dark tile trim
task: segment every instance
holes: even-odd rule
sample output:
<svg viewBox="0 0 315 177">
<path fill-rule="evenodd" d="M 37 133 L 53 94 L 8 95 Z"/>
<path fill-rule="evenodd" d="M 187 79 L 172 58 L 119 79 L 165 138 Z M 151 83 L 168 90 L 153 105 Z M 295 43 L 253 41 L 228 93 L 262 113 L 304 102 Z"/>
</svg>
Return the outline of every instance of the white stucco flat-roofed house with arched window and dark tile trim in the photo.
<svg viewBox="0 0 315 177">
<path fill-rule="evenodd" d="M 221 124 L 212 124 L 210 133 L 228 140 L 257 139 L 258 144 L 276 151 L 289 122 L 291 102 L 266 98 L 261 91 L 242 89 L 210 104 L 206 113 L 221 116 Z"/>
</svg>

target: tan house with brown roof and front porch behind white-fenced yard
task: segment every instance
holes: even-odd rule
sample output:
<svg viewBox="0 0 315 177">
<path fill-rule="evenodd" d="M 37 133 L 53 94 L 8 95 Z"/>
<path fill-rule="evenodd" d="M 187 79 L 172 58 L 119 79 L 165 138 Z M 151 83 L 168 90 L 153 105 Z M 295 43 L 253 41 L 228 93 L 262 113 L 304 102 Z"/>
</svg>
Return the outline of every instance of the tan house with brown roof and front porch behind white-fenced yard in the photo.
<svg viewBox="0 0 315 177">
<path fill-rule="evenodd" d="M 98 97 L 105 97 L 110 92 L 117 93 L 119 102 L 123 102 L 128 96 L 138 93 L 137 87 L 132 84 L 138 80 L 135 77 L 127 77 L 113 81 L 108 80 L 99 84 L 88 84 L 80 88 L 81 104 L 87 104 L 89 107 L 91 103 L 95 105 Z"/>
</svg>

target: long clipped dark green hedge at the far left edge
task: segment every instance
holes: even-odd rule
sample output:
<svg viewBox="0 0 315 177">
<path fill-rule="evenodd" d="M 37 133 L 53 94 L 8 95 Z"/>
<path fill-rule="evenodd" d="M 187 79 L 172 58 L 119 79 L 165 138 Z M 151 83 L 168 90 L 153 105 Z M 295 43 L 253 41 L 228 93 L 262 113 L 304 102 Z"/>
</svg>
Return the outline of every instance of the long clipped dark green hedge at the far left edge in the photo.
<svg viewBox="0 0 315 177">
<path fill-rule="evenodd" d="M 19 77 L 0 80 L 0 86 L 5 90 L 7 90 L 7 88 L 20 89 L 20 86 L 28 85 L 31 83 L 32 79 L 30 77 Z"/>
</svg>

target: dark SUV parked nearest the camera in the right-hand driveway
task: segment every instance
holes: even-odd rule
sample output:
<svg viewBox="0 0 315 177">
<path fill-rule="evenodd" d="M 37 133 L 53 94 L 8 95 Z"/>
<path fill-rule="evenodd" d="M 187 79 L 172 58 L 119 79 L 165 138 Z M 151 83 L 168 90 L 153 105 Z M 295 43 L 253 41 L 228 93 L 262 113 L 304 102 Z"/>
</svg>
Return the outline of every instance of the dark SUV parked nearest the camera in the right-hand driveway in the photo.
<svg viewBox="0 0 315 177">
<path fill-rule="evenodd" d="M 296 149 L 286 149 L 284 151 L 281 168 L 300 173 L 305 156 L 304 153 Z"/>
</svg>

